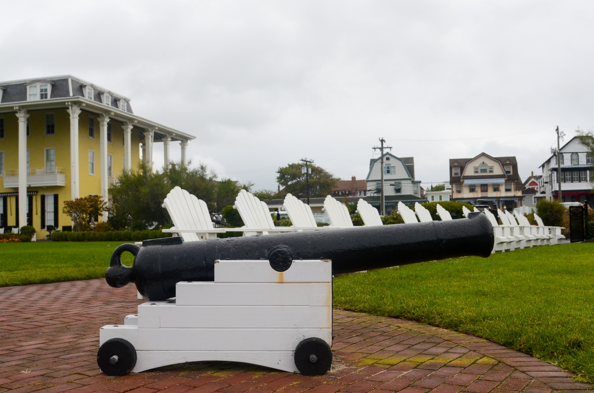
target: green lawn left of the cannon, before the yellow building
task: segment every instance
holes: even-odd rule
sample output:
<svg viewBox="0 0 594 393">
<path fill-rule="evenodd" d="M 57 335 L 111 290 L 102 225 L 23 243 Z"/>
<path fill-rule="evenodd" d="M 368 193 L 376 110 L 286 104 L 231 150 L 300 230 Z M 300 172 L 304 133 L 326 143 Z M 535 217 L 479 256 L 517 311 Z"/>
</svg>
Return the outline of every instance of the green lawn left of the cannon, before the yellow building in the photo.
<svg viewBox="0 0 594 393">
<path fill-rule="evenodd" d="M 0 243 L 0 287 L 105 277 L 113 250 L 124 242 Z M 132 254 L 122 255 L 125 264 Z"/>
</svg>

